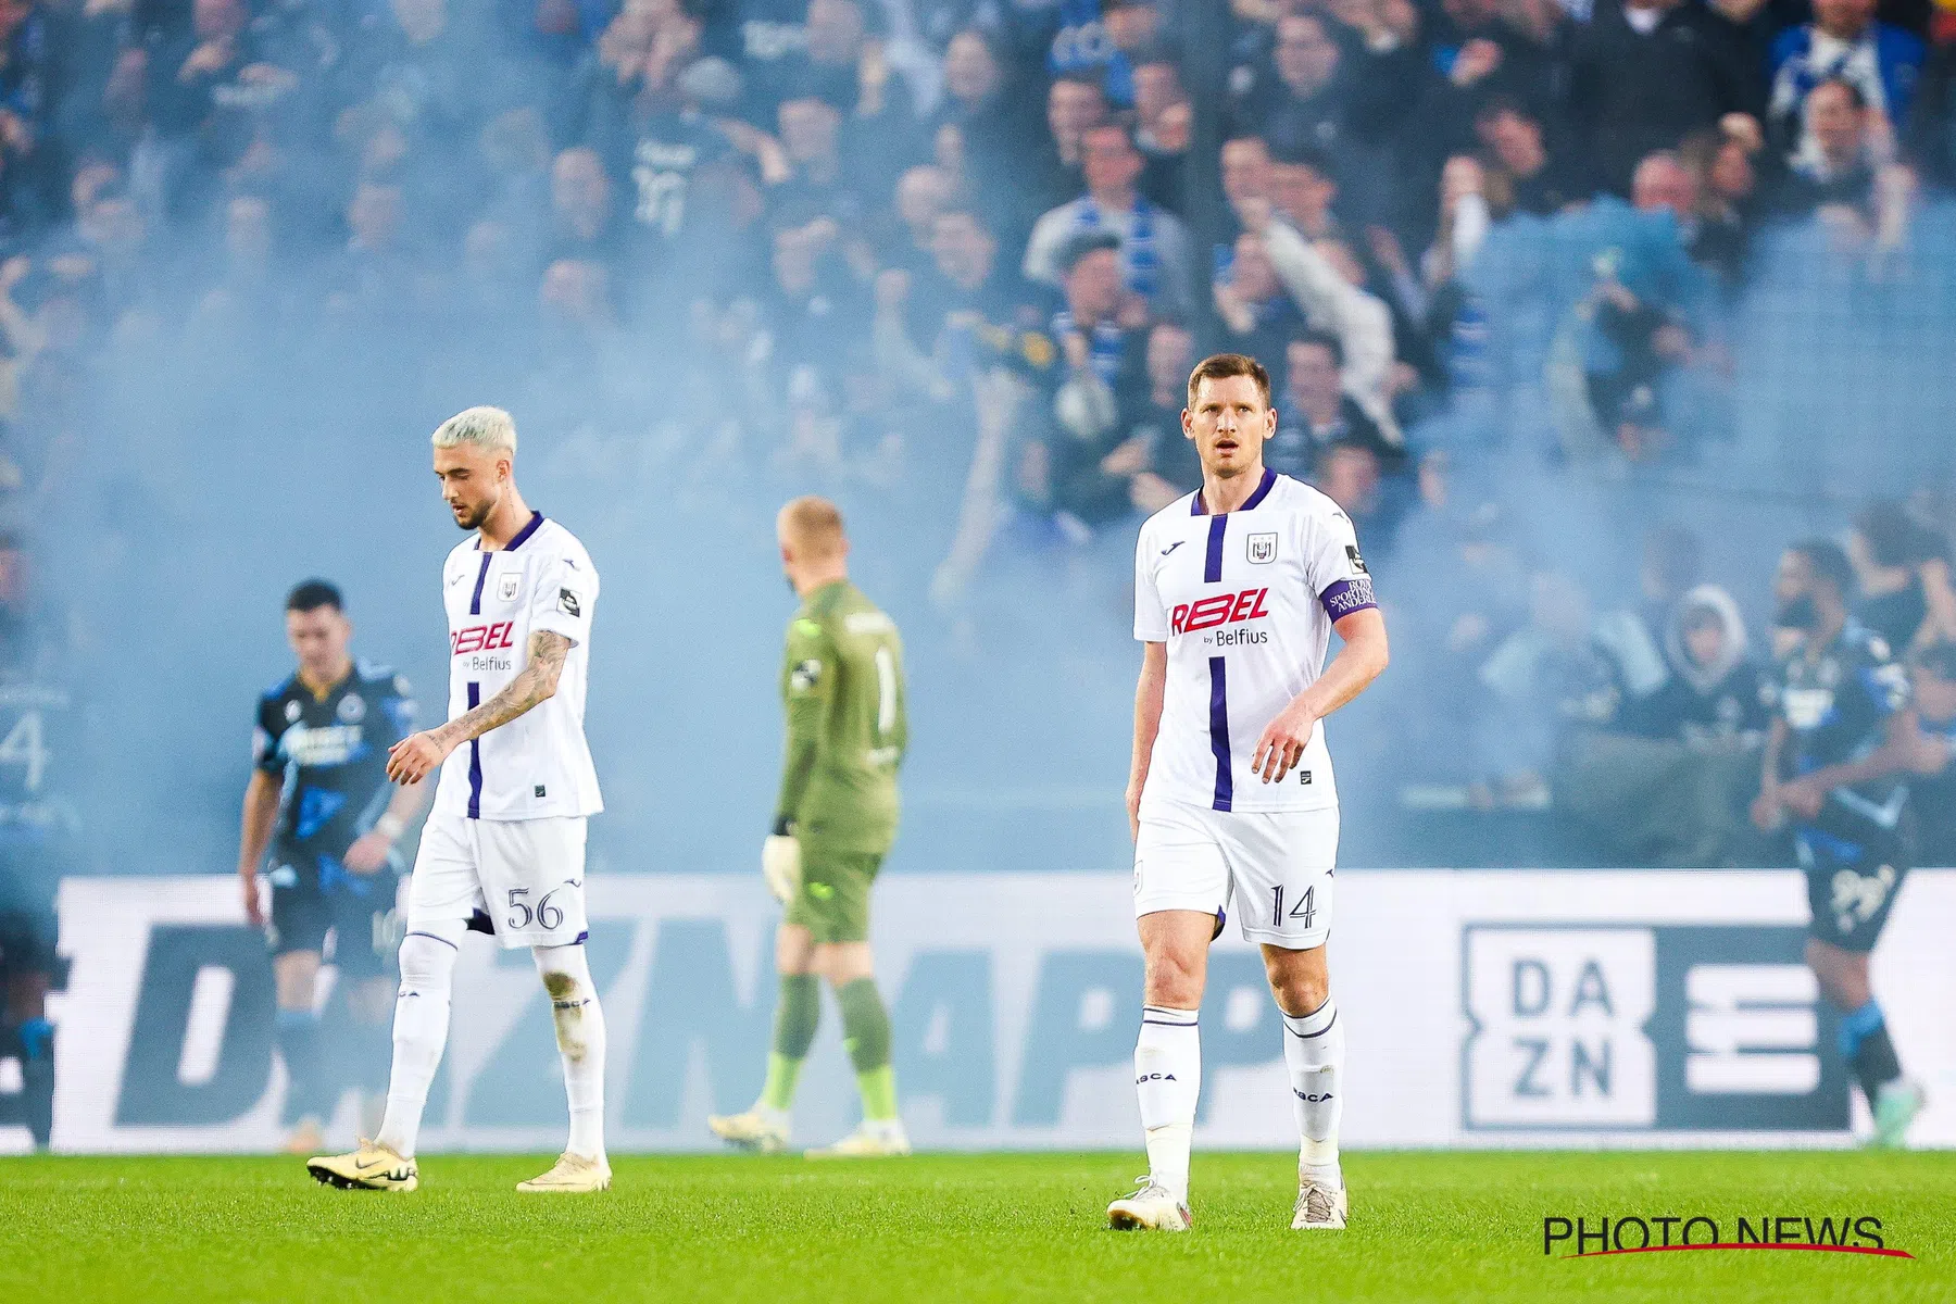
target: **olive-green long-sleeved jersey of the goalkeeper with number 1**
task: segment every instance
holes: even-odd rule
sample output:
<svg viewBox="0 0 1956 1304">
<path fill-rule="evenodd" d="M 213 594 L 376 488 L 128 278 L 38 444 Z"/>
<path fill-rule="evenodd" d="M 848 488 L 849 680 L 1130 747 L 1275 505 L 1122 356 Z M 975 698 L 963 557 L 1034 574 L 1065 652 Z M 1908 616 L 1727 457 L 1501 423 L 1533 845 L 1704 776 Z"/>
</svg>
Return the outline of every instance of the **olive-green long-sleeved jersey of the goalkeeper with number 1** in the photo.
<svg viewBox="0 0 1956 1304">
<path fill-rule="evenodd" d="M 845 579 L 814 590 L 788 624 L 780 696 L 788 749 L 777 827 L 829 850 L 888 852 L 910 743 L 896 622 Z"/>
</svg>

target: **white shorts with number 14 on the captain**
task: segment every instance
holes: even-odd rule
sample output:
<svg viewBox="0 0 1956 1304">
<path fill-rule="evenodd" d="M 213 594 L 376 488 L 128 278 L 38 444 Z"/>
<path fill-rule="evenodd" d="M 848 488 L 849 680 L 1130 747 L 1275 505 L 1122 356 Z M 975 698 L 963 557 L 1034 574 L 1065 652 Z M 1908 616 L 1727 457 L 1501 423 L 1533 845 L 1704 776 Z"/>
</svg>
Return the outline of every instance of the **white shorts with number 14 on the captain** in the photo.
<svg viewBox="0 0 1956 1304">
<path fill-rule="evenodd" d="M 1254 815 L 1148 802 L 1134 841 L 1134 917 L 1234 911 L 1244 940 L 1311 950 L 1332 931 L 1336 864 L 1336 805 Z"/>
</svg>

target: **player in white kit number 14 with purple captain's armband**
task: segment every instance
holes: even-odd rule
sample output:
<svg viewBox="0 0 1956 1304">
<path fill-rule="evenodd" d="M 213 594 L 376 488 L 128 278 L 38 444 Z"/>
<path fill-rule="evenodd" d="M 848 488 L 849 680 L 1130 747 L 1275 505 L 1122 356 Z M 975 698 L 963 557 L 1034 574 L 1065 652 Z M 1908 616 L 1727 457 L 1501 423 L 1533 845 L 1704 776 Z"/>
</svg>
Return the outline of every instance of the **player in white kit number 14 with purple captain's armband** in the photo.
<svg viewBox="0 0 1956 1304">
<path fill-rule="evenodd" d="M 1189 1228 L 1197 1011 L 1209 942 L 1230 909 L 1262 944 L 1283 1015 L 1301 1134 L 1291 1226 L 1346 1226 L 1344 1028 L 1324 964 L 1338 788 L 1322 719 L 1385 669 L 1385 620 L 1352 518 L 1264 467 L 1275 430 L 1269 373 L 1254 358 L 1199 362 L 1181 432 L 1195 440 L 1203 487 L 1150 516 L 1134 547 L 1134 637 L 1146 653 L 1127 813 L 1146 954 L 1134 1087 L 1148 1177 L 1107 1206 L 1125 1230 Z M 1344 647 L 1326 667 L 1332 630 Z"/>
</svg>

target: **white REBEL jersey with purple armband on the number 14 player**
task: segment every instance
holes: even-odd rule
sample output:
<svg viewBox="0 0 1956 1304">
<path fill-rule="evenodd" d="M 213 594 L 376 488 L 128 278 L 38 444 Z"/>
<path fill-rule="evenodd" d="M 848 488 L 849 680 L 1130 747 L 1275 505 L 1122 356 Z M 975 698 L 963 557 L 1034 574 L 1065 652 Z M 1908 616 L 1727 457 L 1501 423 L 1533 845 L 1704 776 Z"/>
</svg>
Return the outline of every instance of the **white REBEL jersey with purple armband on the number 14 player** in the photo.
<svg viewBox="0 0 1956 1304">
<path fill-rule="evenodd" d="M 1324 673 L 1332 624 L 1375 606 L 1352 518 L 1322 493 L 1264 471 L 1222 516 L 1201 493 L 1148 518 L 1134 545 L 1134 637 L 1168 643 L 1162 731 L 1144 800 L 1219 811 L 1338 804 L 1324 721 L 1277 784 L 1250 768 L 1277 712 Z"/>
</svg>

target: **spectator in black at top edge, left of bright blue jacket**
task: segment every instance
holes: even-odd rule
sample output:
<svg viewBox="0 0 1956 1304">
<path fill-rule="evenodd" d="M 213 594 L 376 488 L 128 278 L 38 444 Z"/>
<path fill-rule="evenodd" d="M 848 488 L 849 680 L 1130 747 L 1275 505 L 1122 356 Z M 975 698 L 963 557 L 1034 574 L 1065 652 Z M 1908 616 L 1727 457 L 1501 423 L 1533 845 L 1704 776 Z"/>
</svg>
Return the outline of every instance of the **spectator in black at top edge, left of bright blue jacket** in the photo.
<svg viewBox="0 0 1956 1304">
<path fill-rule="evenodd" d="M 1702 0 L 1596 6 L 1575 39 L 1571 119 L 1594 184 L 1629 194 L 1637 162 L 1725 113 L 1756 111 L 1760 76 L 1733 25 Z"/>
</svg>

